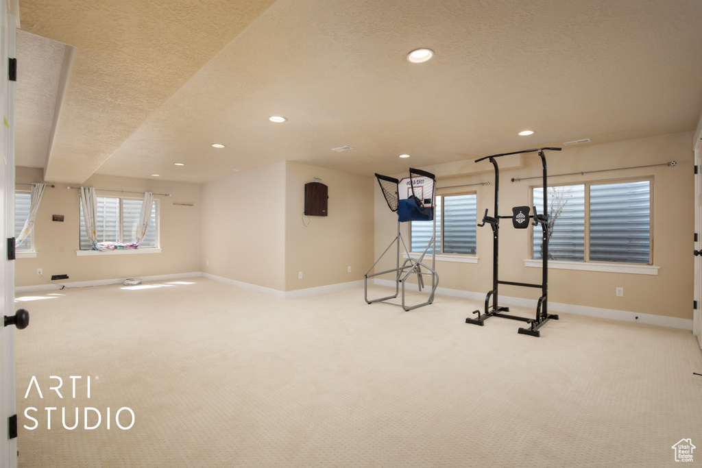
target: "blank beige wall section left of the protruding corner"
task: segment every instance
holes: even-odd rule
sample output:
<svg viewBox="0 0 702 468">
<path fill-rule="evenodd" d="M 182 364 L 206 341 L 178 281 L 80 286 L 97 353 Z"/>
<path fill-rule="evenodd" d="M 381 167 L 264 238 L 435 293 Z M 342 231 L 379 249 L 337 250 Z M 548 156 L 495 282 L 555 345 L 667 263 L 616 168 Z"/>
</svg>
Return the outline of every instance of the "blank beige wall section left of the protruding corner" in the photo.
<svg viewBox="0 0 702 468">
<path fill-rule="evenodd" d="M 285 290 L 285 163 L 202 190 L 201 272 Z"/>
</svg>

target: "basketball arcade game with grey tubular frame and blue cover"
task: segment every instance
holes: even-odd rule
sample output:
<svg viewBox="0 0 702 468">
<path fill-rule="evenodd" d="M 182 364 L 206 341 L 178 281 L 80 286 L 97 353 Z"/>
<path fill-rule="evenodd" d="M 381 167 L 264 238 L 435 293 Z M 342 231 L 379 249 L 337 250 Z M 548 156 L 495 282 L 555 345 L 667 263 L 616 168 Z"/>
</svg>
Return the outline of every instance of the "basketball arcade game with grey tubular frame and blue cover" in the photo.
<svg viewBox="0 0 702 468">
<path fill-rule="evenodd" d="M 402 304 L 395 304 L 393 302 L 388 302 L 388 304 L 399 305 L 405 311 L 411 309 L 416 309 L 417 307 L 422 307 L 423 305 L 428 305 L 434 302 L 434 293 L 439 286 L 439 275 L 435 269 L 436 262 L 436 232 L 437 232 L 437 222 L 434 216 L 434 208 L 436 206 L 436 178 L 432 173 L 426 171 L 420 171 L 419 169 L 409 170 L 409 178 L 403 178 L 402 180 L 397 180 L 387 175 L 376 174 L 378 179 L 378 184 L 380 189 L 383 191 L 383 196 L 385 196 L 385 201 L 388 203 L 388 208 L 392 212 L 397 212 L 397 236 L 390 242 L 388 248 L 378 257 L 373 266 L 364 275 L 364 294 L 366 302 L 371 304 L 373 302 L 385 302 L 390 299 L 395 299 L 400 292 L 400 284 L 402 284 Z M 412 258 L 407 250 L 407 246 L 402 239 L 402 234 L 400 233 L 400 223 L 407 221 L 433 221 L 432 237 L 427 244 L 424 252 L 419 256 L 419 258 Z M 383 258 L 385 253 L 392 247 L 393 244 L 397 243 L 396 246 L 396 258 L 395 258 L 395 268 L 385 270 L 384 272 L 372 273 L 373 268 L 378 265 L 380 259 Z M 404 253 L 407 255 L 407 259 L 402 262 L 402 266 L 399 263 L 400 257 L 400 243 L 404 248 Z M 429 249 L 432 249 L 432 266 L 429 267 L 424 263 L 424 257 L 428 253 Z M 424 267 L 427 271 L 422 270 Z M 380 276 L 388 273 L 395 273 L 395 294 L 388 297 L 380 297 L 378 299 L 368 299 L 368 279 L 374 276 Z M 406 279 L 409 278 L 411 274 L 417 275 L 417 286 L 421 291 L 424 287 L 424 276 L 431 276 L 432 286 L 429 298 L 426 302 L 420 304 L 408 306 L 405 303 L 404 285 Z"/>
</svg>

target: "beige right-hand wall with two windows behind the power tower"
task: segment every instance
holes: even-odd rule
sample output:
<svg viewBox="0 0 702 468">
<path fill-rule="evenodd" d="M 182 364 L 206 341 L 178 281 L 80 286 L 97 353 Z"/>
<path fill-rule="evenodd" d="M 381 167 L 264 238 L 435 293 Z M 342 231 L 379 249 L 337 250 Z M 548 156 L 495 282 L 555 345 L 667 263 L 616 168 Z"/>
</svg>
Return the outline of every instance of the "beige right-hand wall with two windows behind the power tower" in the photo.
<svg viewBox="0 0 702 468">
<path fill-rule="evenodd" d="M 692 132 L 687 132 L 547 152 L 550 175 L 677 161 L 677 166 L 673 167 L 657 166 L 549 178 L 549 183 L 554 185 L 645 176 L 654 178 L 653 264 L 660 267 L 657 276 L 549 269 L 551 302 L 691 319 L 694 232 L 691 138 Z M 481 168 L 481 165 L 484 167 Z M 524 167 L 503 170 L 501 164 L 501 215 L 510 214 L 512 206 L 527 204 L 530 187 L 541 183 L 538 179 L 510 182 L 511 178 L 541 175 L 538 156 L 523 156 L 521 165 Z M 514 164 L 510 162 L 509 166 Z M 453 164 L 425 169 L 437 174 L 438 187 L 486 181 L 494 183 L 494 172 L 489 161 L 460 166 L 466 172 L 463 176 L 460 175 L 461 171 L 456 171 L 457 167 Z M 485 208 L 490 208 L 490 215 L 493 215 L 494 185 L 465 187 L 465 191 L 477 193 L 479 219 Z M 379 189 L 376 188 L 375 194 L 377 258 L 395 236 L 397 217 L 388 210 Z M 402 226 L 404 235 L 406 224 Z M 409 236 L 405 239 L 409 241 Z M 540 268 L 524 267 L 524 260 L 530 255 L 529 242 L 527 231 L 513 229 L 509 220 L 503 220 L 500 229 L 500 279 L 541 283 Z M 438 262 L 439 287 L 481 294 L 491 289 L 492 234 L 487 226 L 478 228 L 477 256 L 477 264 Z M 376 269 L 392 267 L 392 262 L 394 260 L 389 259 Z M 617 286 L 624 288 L 624 297 L 616 297 Z M 501 286 L 500 293 L 534 300 L 539 295 L 538 290 L 513 286 Z"/>
</svg>

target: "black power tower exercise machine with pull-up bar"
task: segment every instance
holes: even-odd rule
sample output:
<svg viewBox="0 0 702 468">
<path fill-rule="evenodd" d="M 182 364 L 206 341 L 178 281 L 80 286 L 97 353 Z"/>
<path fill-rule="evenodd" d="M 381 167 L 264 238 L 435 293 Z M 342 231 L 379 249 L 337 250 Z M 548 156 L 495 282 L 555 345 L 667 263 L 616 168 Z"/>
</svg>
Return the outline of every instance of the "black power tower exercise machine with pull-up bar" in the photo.
<svg viewBox="0 0 702 468">
<path fill-rule="evenodd" d="M 558 320 L 557 315 L 548 313 L 548 196 L 546 196 L 546 187 L 548 187 L 547 180 L 547 170 L 546 170 L 546 156 L 543 154 L 545 150 L 550 151 L 560 151 L 560 148 L 537 148 L 537 149 L 525 149 L 524 151 L 517 151 L 512 153 L 504 154 L 494 154 L 493 156 L 485 156 L 484 158 L 476 159 L 475 162 L 484 161 L 489 159 L 495 168 L 495 208 L 494 216 L 488 216 L 488 210 L 485 210 L 485 215 L 483 216 L 482 222 L 478 225 L 483 227 L 484 225 L 490 225 L 492 228 L 492 248 L 493 248 L 493 259 L 492 259 L 492 289 L 489 290 L 485 297 L 485 311 L 480 314 L 480 310 L 473 311 L 473 314 L 477 314 L 477 319 L 465 319 L 465 323 L 472 323 L 474 325 L 483 326 L 486 319 L 492 316 L 502 317 L 503 319 L 520 320 L 529 323 L 529 328 L 519 328 L 519 333 L 523 335 L 531 336 L 541 336 L 539 328 L 543 326 L 544 323 L 551 319 Z M 501 216 L 498 211 L 498 195 L 500 192 L 500 170 L 497 165 L 496 158 L 501 156 L 510 156 L 512 154 L 522 154 L 522 153 L 534 153 L 536 152 L 539 157 L 541 157 L 541 165 L 543 166 L 543 212 L 538 214 L 536 211 L 536 205 L 534 205 L 534 214 L 529 214 L 529 206 L 515 206 L 512 208 L 512 215 Z M 533 220 L 531 225 L 537 226 L 541 225 L 541 230 L 543 232 L 543 254 L 541 255 L 542 261 L 542 280 L 541 284 L 534 283 L 519 283 L 516 281 L 502 281 L 498 279 L 498 250 L 499 250 L 499 229 L 500 220 L 509 218 L 512 220 L 512 225 L 517 229 L 527 229 L 529 227 L 529 219 Z M 498 286 L 501 284 L 508 284 L 510 286 L 523 286 L 524 288 L 540 288 L 541 297 L 538 299 L 538 304 L 536 305 L 536 318 L 528 319 L 527 317 L 521 317 L 517 315 L 504 314 L 503 312 L 509 312 L 509 307 L 501 307 L 498 305 Z M 490 305 L 490 299 L 492 298 L 492 305 Z"/>
</svg>

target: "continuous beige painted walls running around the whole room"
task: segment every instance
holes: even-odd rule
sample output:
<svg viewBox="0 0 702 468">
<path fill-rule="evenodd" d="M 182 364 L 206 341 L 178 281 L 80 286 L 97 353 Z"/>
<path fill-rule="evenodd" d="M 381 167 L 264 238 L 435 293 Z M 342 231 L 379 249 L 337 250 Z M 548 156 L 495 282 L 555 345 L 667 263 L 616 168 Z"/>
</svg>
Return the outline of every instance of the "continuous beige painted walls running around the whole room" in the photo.
<svg viewBox="0 0 702 468">
<path fill-rule="evenodd" d="M 657 276 L 550 269 L 551 302 L 691 318 L 693 261 L 689 253 L 693 247 L 694 224 L 691 138 L 692 132 L 688 132 L 548 153 L 553 184 L 644 176 L 654 179 L 654 265 L 660 267 Z M 672 160 L 677 161 L 677 166 L 554 176 Z M 488 162 L 425 169 L 439 175 L 439 187 L 493 179 Z M 510 179 L 540 173 L 536 156 L 505 161 L 505 169 L 501 171 L 502 214 L 509 213 L 512 206 L 527 203 L 530 187 L 538 184 L 538 180 L 510 182 Z M 329 216 L 303 220 L 304 185 L 315 177 L 329 187 Z M 41 170 L 17 168 L 17 182 L 41 182 Z M 65 185 L 57 185 L 47 189 L 37 218 L 34 234 L 37 258 L 22 258 L 16 263 L 17 286 L 45 284 L 36 275 L 37 268 L 44 269 L 46 277 L 68 274 L 69 282 L 201 271 L 279 291 L 327 286 L 362 279 L 392 241 L 397 225 L 396 215 L 388 210 L 374 178 L 292 162 L 237 173 L 206 185 L 97 175 L 85 185 L 173 194 L 159 197 L 163 252 L 77 257 L 78 194 L 67 190 Z M 494 185 L 451 191 L 477 193 L 479 216 L 493 203 Z M 64 215 L 65 221 L 52 222 L 53 214 Z M 402 231 L 409 242 L 407 223 L 403 223 Z M 438 262 L 439 287 L 482 295 L 491 288 L 490 229 L 478 229 L 477 242 L 477 264 Z M 501 279 L 540 281 L 541 269 L 524 267 L 524 259 L 530 255 L 529 242 L 527 232 L 512 229 L 508 222 L 503 224 Z M 352 267 L 350 274 L 348 266 Z M 388 255 L 376 271 L 393 266 L 394 258 Z M 298 279 L 300 271 L 303 279 Z M 625 289 L 624 297 L 616 297 L 616 286 Z M 501 294 L 538 297 L 535 290 L 510 286 L 501 286 Z"/>
</svg>

